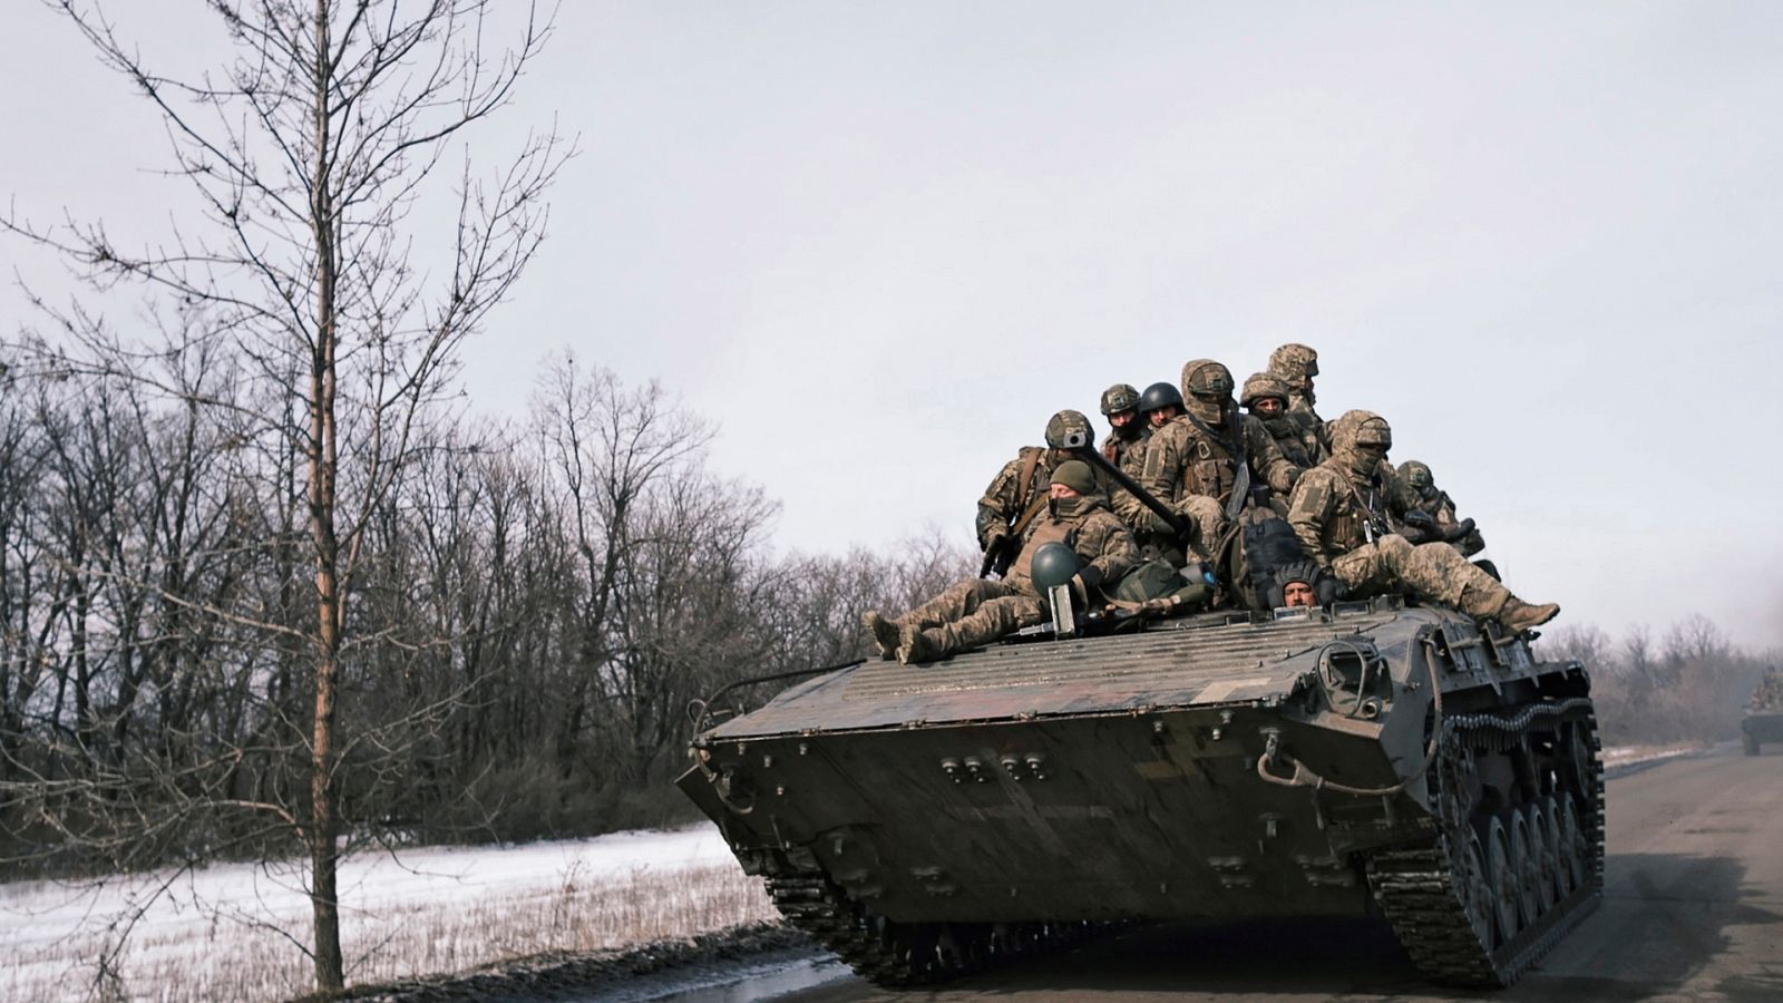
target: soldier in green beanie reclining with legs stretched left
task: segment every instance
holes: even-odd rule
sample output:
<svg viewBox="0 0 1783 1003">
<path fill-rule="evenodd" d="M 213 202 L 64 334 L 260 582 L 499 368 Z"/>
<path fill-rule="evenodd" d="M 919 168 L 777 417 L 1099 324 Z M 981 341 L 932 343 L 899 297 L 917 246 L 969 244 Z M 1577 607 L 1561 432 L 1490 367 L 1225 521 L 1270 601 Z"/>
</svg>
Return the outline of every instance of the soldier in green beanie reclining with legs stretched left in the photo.
<svg viewBox="0 0 1783 1003">
<path fill-rule="evenodd" d="M 1013 630 L 1043 623 L 1047 603 L 1034 587 L 1034 557 L 1041 546 L 1061 543 L 1082 560 L 1072 576 L 1072 593 L 1086 605 L 1100 598 L 1102 584 L 1125 575 L 1139 559 L 1132 535 L 1097 493 L 1097 478 L 1084 460 L 1064 460 L 1052 471 L 1047 514 L 1022 534 L 1022 553 L 1000 582 L 966 578 L 940 596 L 886 619 L 867 610 L 861 621 L 872 634 L 881 659 L 931 662 L 952 651 L 988 644 Z"/>
</svg>

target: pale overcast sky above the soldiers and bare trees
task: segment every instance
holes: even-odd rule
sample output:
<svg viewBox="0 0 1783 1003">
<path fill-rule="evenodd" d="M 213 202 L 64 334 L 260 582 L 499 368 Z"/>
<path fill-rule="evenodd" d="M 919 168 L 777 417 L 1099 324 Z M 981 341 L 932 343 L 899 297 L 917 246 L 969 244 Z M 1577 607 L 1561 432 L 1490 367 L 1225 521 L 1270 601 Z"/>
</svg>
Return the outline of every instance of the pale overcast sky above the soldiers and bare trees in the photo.
<svg viewBox="0 0 1783 1003">
<path fill-rule="evenodd" d="M 0 195 L 166 227 L 141 102 L 50 11 L 0 30 Z M 1054 410 L 1303 341 L 1560 625 L 1783 642 L 1783 4 L 576 0 L 474 152 L 553 120 L 474 407 L 562 348 L 658 378 L 783 548 L 966 541 Z"/>
</svg>

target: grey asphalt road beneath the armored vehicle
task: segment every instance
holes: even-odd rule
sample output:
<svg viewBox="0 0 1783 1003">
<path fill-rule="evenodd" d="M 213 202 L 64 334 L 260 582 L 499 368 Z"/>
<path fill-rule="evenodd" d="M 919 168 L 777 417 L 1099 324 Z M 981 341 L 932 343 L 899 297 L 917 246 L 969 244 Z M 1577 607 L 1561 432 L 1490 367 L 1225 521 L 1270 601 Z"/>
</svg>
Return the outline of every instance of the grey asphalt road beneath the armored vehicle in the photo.
<svg viewBox="0 0 1783 1003">
<path fill-rule="evenodd" d="M 1384 923 L 1163 924 L 934 992 L 852 974 L 776 999 L 1783 999 L 1783 750 L 1738 746 L 1608 782 L 1603 905 L 1491 992 L 1425 983 Z M 742 989 L 742 987 L 736 987 Z M 745 999 L 752 994 L 727 996 Z"/>
</svg>

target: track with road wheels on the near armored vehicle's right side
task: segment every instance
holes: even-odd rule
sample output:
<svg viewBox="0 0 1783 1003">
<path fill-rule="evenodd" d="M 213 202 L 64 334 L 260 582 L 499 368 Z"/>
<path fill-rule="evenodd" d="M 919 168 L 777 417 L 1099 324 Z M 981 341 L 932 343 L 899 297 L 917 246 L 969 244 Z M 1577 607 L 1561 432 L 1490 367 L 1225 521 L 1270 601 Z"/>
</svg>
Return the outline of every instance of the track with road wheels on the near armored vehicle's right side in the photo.
<svg viewBox="0 0 1783 1003">
<path fill-rule="evenodd" d="M 1412 962 L 1450 985 L 1510 985 L 1603 898 L 1603 764 L 1583 698 L 1444 723 L 1428 846 L 1368 860 L 1375 899 Z M 1475 758 L 1524 764 L 1517 803 L 1483 805 Z"/>
</svg>

